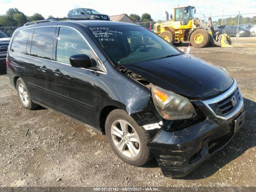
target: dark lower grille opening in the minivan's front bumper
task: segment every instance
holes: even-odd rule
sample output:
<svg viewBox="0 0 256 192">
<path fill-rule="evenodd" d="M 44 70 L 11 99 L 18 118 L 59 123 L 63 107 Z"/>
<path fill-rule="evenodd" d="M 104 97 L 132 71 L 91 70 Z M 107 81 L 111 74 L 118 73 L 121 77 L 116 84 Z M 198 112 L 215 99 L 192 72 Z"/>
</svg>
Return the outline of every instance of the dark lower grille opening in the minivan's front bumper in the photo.
<svg viewBox="0 0 256 192">
<path fill-rule="evenodd" d="M 234 135 L 234 133 L 229 132 L 228 134 L 216 139 L 216 140 L 212 140 L 210 142 L 208 142 L 208 153 L 212 154 L 213 152 L 215 152 L 216 150 L 218 150 L 219 148 L 221 148 L 222 146 L 224 146 Z"/>
</svg>

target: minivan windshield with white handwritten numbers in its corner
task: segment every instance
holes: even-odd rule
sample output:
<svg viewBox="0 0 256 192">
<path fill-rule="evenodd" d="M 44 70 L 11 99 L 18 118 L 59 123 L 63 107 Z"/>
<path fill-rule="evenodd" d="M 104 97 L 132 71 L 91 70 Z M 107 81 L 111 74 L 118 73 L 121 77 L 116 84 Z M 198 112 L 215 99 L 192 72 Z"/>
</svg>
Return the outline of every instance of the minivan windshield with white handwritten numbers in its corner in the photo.
<svg viewBox="0 0 256 192">
<path fill-rule="evenodd" d="M 140 26 L 89 27 L 92 37 L 116 65 L 176 56 L 182 52 Z"/>
</svg>

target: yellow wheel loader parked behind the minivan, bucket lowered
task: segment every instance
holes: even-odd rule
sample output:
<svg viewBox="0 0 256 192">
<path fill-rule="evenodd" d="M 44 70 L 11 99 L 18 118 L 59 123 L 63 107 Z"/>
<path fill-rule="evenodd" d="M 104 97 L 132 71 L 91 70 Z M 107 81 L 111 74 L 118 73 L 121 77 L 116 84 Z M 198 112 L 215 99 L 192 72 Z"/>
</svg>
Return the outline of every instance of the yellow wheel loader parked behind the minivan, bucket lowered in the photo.
<svg viewBox="0 0 256 192">
<path fill-rule="evenodd" d="M 174 16 L 166 13 L 166 21 L 154 24 L 154 32 L 171 44 L 179 44 L 190 41 L 195 48 L 205 47 L 212 43 L 218 46 L 232 46 L 227 34 L 220 34 L 212 24 L 212 18 L 208 22 L 194 18 L 196 9 L 194 6 L 173 8 Z"/>
</svg>

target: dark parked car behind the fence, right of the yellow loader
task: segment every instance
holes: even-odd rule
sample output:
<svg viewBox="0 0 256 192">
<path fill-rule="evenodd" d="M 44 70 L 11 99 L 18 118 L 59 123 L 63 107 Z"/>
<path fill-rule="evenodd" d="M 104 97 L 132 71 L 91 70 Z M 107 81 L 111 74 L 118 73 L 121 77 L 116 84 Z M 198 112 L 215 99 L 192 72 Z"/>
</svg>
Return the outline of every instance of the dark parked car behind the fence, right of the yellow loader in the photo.
<svg viewBox="0 0 256 192">
<path fill-rule="evenodd" d="M 238 30 L 237 30 L 238 28 Z M 250 30 L 243 28 L 242 26 L 226 26 L 223 30 L 230 37 L 250 37 Z"/>
</svg>

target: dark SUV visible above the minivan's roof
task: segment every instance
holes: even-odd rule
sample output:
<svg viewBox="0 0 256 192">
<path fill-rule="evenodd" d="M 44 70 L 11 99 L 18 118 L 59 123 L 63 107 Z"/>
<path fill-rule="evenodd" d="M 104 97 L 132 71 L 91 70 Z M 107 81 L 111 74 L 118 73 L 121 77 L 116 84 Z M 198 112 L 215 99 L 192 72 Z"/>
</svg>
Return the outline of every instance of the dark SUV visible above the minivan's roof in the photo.
<svg viewBox="0 0 256 192">
<path fill-rule="evenodd" d="M 101 14 L 96 10 L 87 8 L 77 8 L 68 12 L 68 18 L 110 20 L 108 15 Z"/>
</svg>

